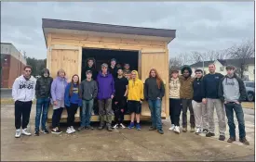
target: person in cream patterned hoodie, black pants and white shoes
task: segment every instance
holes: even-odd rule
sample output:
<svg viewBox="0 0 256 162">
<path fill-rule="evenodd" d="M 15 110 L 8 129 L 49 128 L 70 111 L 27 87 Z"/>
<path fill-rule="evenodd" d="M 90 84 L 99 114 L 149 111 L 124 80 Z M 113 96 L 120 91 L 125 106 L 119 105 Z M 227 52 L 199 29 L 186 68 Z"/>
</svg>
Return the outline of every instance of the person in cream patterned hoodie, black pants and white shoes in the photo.
<svg viewBox="0 0 256 162">
<path fill-rule="evenodd" d="M 169 131 L 180 133 L 180 116 L 182 112 L 182 100 L 180 95 L 181 81 L 179 79 L 179 69 L 171 69 L 169 87 L 169 117 L 170 128 Z"/>
</svg>

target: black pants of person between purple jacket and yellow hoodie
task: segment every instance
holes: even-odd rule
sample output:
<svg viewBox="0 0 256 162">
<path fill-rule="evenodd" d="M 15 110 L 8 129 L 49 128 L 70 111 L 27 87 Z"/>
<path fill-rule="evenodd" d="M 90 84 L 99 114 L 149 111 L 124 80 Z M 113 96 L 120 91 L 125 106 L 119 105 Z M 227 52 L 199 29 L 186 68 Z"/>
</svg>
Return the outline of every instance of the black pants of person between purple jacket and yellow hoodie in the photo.
<svg viewBox="0 0 256 162">
<path fill-rule="evenodd" d="M 115 102 L 118 102 L 118 103 L 115 105 Z M 125 105 L 127 101 L 125 99 L 121 99 L 115 102 L 114 102 L 115 123 L 120 124 L 124 120 Z M 121 109 L 123 109 L 123 112 L 121 111 Z"/>
</svg>

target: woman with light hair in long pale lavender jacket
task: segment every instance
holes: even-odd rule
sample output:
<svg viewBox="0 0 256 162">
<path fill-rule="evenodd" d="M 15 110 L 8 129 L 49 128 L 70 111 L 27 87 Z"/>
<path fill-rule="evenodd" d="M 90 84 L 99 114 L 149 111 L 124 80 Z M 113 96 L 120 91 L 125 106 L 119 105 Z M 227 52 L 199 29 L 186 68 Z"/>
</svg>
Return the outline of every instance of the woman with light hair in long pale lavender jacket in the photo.
<svg viewBox="0 0 256 162">
<path fill-rule="evenodd" d="M 52 81 L 50 89 L 53 104 L 51 132 L 56 134 L 60 134 L 62 132 L 59 127 L 61 114 L 64 108 L 65 88 L 67 86 L 67 79 L 65 78 L 65 75 L 65 71 L 63 69 L 60 69 L 57 72 L 58 77 Z"/>
</svg>

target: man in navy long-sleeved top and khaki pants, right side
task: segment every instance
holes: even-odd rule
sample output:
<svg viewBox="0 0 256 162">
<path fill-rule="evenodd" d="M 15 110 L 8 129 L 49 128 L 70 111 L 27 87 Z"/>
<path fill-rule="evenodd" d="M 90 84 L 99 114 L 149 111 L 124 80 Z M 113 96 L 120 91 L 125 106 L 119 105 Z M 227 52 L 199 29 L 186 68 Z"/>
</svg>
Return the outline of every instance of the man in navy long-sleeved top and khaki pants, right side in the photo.
<svg viewBox="0 0 256 162">
<path fill-rule="evenodd" d="M 216 108 L 216 113 L 218 116 L 219 131 L 220 136 L 219 140 L 225 140 L 225 110 L 223 108 L 223 103 L 220 100 L 218 95 L 219 83 L 223 78 L 221 73 L 215 72 L 215 65 L 209 64 L 209 74 L 205 75 L 203 78 L 203 100 L 202 102 L 206 104 L 208 119 L 209 119 L 209 132 L 206 134 L 206 137 L 215 136 L 215 122 L 214 122 L 214 107 Z"/>
</svg>

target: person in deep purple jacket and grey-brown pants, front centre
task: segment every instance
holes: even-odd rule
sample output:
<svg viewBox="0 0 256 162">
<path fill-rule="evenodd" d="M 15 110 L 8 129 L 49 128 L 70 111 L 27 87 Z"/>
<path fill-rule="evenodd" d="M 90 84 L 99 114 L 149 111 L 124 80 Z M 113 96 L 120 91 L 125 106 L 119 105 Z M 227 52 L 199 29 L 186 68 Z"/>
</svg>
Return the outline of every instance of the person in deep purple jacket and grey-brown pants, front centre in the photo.
<svg viewBox="0 0 256 162">
<path fill-rule="evenodd" d="M 101 71 L 97 76 L 98 81 L 98 103 L 99 103 L 99 115 L 100 115 L 100 127 L 99 130 L 104 128 L 104 121 L 108 131 L 112 131 L 112 99 L 115 96 L 115 82 L 112 74 L 108 72 L 108 65 L 102 64 Z"/>
</svg>

